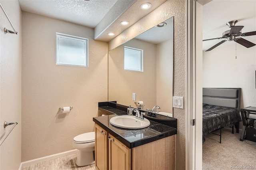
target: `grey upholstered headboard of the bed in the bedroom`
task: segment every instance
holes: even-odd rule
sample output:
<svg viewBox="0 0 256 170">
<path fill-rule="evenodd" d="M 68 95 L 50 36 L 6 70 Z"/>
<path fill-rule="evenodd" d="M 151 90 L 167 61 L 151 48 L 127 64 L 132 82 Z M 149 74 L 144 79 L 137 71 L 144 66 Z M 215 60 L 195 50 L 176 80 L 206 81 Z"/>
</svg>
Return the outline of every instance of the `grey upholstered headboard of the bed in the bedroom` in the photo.
<svg viewBox="0 0 256 170">
<path fill-rule="evenodd" d="M 241 88 L 203 88 L 203 103 L 240 111 Z"/>
</svg>

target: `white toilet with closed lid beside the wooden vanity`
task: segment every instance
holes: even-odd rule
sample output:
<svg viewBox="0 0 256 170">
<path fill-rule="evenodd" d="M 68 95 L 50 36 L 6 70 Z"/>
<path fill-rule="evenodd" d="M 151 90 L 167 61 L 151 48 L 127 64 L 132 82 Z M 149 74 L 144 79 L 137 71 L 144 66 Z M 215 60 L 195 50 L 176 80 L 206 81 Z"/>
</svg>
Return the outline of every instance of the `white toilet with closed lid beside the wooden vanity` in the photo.
<svg viewBox="0 0 256 170">
<path fill-rule="evenodd" d="M 83 133 L 74 137 L 73 146 L 78 150 L 77 166 L 86 166 L 95 163 L 95 132 Z"/>
</svg>

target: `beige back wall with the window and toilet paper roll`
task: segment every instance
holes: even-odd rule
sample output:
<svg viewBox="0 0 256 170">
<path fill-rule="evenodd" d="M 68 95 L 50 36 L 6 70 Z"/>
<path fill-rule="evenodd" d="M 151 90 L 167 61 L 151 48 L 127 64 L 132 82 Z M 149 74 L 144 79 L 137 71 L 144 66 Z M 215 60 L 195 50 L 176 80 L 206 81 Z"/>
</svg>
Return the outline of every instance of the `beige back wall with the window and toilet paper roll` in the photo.
<svg viewBox="0 0 256 170">
<path fill-rule="evenodd" d="M 89 67 L 56 65 L 56 32 L 89 39 Z M 22 161 L 74 149 L 108 96 L 108 43 L 94 30 L 22 12 Z M 68 114 L 59 107 L 73 106 Z"/>
</svg>

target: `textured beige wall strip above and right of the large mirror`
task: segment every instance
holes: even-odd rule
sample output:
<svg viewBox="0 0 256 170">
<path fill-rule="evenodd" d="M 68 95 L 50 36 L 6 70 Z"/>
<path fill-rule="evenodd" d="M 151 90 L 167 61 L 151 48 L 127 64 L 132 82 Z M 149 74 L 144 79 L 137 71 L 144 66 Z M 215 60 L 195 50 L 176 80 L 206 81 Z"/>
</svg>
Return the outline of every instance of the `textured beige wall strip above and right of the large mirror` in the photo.
<svg viewBox="0 0 256 170">
<path fill-rule="evenodd" d="M 186 0 L 167 0 L 156 10 L 110 41 L 108 48 L 113 49 L 172 16 L 174 16 L 173 96 L 184 97 L 184 108 L 186 108 Z M 141 25 L 140 23 L 147 24 Z M 184 170 L 186 159 L 186 110 L 174 108 L 173 116 L 178 119 L 176 170 Z"/>
</svg>

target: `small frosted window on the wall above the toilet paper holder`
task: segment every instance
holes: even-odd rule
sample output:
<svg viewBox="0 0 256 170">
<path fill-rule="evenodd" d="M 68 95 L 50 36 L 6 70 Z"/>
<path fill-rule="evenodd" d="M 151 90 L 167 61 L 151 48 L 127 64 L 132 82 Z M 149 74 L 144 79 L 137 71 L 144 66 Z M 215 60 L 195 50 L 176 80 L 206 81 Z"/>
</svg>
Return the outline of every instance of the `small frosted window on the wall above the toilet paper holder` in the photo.
<svg viewBox="0 0 256 170">
<path fill-rule="evenodd" d="M 56 64 L 88 67 L 88 39 L 56 33 Z"/>
</svg>

